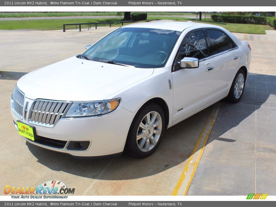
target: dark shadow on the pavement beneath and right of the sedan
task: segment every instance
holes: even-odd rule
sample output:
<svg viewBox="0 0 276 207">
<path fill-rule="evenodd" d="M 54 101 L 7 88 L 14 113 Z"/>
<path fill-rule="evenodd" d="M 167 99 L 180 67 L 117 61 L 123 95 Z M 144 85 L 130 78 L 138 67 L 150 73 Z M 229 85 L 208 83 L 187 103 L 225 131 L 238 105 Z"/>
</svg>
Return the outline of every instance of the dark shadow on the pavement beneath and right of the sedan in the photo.
<svg viewBox="0 0 276 207">
<path fill-rule="evenodd" d="M 213 131 L 207 142 L 220 140 L 235 142 L 235 139 L 220 137 L 241 123 L 249 123 L 251 115 L 266 102 L 276 101 L 276 76 L 250 74 L 241 101 L 231 104 L 221 101 Z M 37 162 L 55 171 L 98 180 L 128 180 L 156 175 L 185 162 L 192 154 L 207 117 L 216 105 L 187 118 L 167 129 L 158 149 L 144 159 L 132 158 L 127 154 L 100 160 L 75 159 L 69 155 L 45 150 L 26 142 Z M 241 124 L 244 126 L 243 124 Z M 241 129 L 242 130 L 242 127 Z"/>
</svg>

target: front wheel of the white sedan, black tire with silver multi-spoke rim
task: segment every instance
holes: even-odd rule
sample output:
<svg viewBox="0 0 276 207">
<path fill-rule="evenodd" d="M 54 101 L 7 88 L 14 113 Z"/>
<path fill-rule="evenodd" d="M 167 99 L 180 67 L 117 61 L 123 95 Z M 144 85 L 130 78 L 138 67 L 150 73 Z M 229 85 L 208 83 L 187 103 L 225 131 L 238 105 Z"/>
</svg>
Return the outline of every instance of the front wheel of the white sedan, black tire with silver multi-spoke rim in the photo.
<svg viewBox="0 0 276 207">
<path fill-rule="evenodd" d="M 165 115 L 162 108 L 154 103 L 143 106 L 131 123 L 126 151 L 137 158 L 150 156 L 160 144 L 164 131 Z"/>
</svg>

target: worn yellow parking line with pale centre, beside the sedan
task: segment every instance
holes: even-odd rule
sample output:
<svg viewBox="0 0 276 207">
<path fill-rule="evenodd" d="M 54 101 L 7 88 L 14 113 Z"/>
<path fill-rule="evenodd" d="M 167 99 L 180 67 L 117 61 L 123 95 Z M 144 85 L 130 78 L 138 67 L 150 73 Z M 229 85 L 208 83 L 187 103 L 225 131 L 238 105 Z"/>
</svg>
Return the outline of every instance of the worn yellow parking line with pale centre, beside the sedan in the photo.
<svg viewBox="0 0 276 207">
<path fill-rule="evenodd" d="M 175 189 L 173 190 L 172 196 L 177 195 L 187 195 L 188 189 L 191 185 L 191 182 L 193 180 L 193 176 L 196 173 L 196 169 L 198 167 L 200 158 L 202 156 L 202 153 L 204 151 L 205 145 L 207 143 L 207 140 L 210 136 L 210 133 L 212 131 L 212 128 L 214 126 L 216 117 L 218 115 L 218 111 L 221 107 L 221 102 L 217 103 L 214 110 L 210 114 L 210 116 L 207 119 L 207 122 L 204 125 L 204 128 L 198 138 L 198 141 L 196 143 L 195 148 L 193 149 L 193 152 L 191 156 L 188 159 L 188 162 L 175 186 Z M 204 139 L 202 140 L 202 138 Z M 195 159 L 193 159 L 195 158 Z M 195 161 L 194 161 L 195 160 Z"/>
</svg>

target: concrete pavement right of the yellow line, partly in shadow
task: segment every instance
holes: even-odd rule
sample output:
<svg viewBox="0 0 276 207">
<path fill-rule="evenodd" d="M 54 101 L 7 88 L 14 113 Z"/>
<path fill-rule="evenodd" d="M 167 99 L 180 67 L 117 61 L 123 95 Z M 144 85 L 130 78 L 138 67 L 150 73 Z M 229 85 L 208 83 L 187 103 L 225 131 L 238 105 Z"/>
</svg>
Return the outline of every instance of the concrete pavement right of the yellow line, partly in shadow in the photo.
<svg viewBox="0 0 276 207">
<path fill-rule="evenodd" d="M 276 31 L 266 32 L 235 34 L 251 45 L 250 75 L 239 103 L 222 102 L 187 195 L 276 195 Z"/>
</svg>

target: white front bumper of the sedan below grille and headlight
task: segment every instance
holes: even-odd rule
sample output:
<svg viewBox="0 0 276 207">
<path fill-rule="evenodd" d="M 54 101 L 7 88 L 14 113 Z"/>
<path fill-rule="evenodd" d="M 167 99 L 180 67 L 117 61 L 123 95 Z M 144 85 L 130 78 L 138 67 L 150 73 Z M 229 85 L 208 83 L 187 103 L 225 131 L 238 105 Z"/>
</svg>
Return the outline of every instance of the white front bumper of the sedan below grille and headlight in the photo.
<svg viewBox="0 0 276 207">
<path fill-rule="evenodd" d="M 30 107 L 33 100 L 25 99 L 25 101 L 29 101 Z M 53 147 L 31 141 L 24 137 L 26 141 L 34 145 L 57 152 L 67 153 L 72 156 L 97 157 L 118 154 L 124 150 L 127 133 L 135 113 L 119 106 L 116 111 L 105 116 L 61 119 L 53 128 L 30 124 L 24 118 L 21 120 L 12 111 L 11 115 L 15 123 L 19 120 L 20 122 L 35 127 L 37 136 L 64 143 L 64 147 L 62 148 Z M 84 151 L 68 150 L 66 146 L 69 141 L 89 141 L 90 144 L 87 150 Z"/>
</svg>

